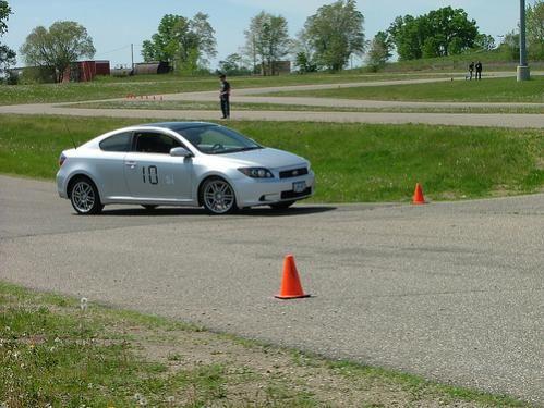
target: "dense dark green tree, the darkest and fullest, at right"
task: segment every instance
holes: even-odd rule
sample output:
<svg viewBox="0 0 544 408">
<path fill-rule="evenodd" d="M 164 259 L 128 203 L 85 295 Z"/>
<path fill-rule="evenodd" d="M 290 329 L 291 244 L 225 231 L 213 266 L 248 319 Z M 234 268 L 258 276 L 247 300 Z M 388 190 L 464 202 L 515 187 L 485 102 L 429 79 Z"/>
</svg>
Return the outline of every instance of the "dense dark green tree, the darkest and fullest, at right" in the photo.
<svg viewBox="0 0 544 408">
<path fill-rule="evenodd" d="M 473 48 L 479 35 L 476 22 L 451 7 L 419 17 L 399 16 L 388 33 L 401 60 L 459 54 Z"/>
</svg>

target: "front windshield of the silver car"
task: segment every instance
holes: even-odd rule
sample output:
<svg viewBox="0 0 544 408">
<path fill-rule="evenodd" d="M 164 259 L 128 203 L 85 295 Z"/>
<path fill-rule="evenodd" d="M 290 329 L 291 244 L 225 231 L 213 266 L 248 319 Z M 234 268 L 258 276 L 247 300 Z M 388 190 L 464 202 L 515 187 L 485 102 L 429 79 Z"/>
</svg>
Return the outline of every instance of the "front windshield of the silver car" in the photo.
<svg viewBox="0 0 544 408">
<path fill-rule="evenodd" d="M 206 154 L 225 154 L 262 149 L 261 145 L 223 126 L 198 126 L 180 129 L 179 134 Z"/>
</svg>

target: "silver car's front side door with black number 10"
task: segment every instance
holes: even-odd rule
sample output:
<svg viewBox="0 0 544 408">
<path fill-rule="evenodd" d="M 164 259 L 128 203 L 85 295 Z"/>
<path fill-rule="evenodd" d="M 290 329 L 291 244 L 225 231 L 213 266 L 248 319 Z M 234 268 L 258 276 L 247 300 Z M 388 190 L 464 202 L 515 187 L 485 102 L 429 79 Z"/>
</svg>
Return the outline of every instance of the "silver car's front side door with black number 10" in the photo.
<svg viewBox="0 0 544 408">
<path fill-rule="evenodd" d="M 133 150 L 124 158 L 131 196 L 143 201 L 191 201 L 193 160 L 170 156 L 178 139 L 156 131 L 134 133 Z"/>
</svg>

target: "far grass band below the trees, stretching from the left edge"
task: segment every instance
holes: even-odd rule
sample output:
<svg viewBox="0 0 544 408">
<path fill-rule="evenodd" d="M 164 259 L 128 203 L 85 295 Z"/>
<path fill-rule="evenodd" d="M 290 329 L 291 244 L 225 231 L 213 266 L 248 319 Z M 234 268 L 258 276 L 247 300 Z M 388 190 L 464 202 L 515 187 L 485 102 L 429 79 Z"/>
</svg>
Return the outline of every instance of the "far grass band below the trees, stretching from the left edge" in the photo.
<svg viewBox="0 0 544 408">
<path fill-rule="evenodd" d="M 435 76 L 425 74 L 425 76 Z M 444 76 L 444 74 L 437 74 Z M 421 77 L 421 74 L 307 74 L 281 76 L 237 76 L 229 78 L 232 89 L 304 85 L 339 84 L 383 79 Z M 134 95 L 161 95 L 200 90 L 219 91 L 219 79 L 215 76 L 183 78 L 177 75 L 141 75 L 125 78 L 104 77 L 92 83 L 0 85 L 0 104 L 70 102 L 124 98 Z"/>
</svg>

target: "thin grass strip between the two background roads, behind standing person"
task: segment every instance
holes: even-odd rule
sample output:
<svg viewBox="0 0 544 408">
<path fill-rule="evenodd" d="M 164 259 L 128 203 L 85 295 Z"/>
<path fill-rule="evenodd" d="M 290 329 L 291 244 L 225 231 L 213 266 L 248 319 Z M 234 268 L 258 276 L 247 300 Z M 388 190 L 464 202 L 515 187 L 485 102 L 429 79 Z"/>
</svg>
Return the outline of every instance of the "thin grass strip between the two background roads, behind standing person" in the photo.
<svg viewBox="0 0 544 408">
<path fill-rule="evenodd" d="M 158 110 L 210 110 L 218 109 L 218 102 L 189 102 L 189 101 L 154 101 L 125 100 L 83 102 L 68 106 L 69 108 L 89 109 L 158 109 Z M 247 103 L 231 102 L 232 111 L 302 111 L 302 112 L 402 112 L 402 113 L 532 113 L 544 114 L 542 107 L 448 107 L 448 108 L 347 108 L 347 107 L 316 107 L 307 104 L 285 103 Z"/>
</svg>

